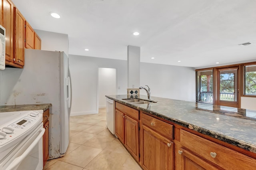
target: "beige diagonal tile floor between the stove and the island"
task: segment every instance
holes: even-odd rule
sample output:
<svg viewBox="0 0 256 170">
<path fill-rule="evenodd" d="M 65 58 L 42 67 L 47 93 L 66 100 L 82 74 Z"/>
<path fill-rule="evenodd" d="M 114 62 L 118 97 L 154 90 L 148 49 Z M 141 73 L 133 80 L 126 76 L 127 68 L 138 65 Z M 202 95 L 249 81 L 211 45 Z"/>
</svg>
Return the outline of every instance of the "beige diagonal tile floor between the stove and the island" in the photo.
<svg viewBox="0 0 256 170">
<path fill-rule="evenodd" d="M 141 170 L 121 142 L 106 129 L 106 109 L 70 117 L 66 155 L 48 160 L 44 170 Z"/>
</svg>

